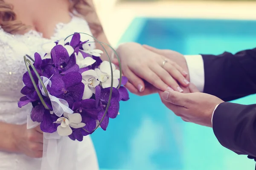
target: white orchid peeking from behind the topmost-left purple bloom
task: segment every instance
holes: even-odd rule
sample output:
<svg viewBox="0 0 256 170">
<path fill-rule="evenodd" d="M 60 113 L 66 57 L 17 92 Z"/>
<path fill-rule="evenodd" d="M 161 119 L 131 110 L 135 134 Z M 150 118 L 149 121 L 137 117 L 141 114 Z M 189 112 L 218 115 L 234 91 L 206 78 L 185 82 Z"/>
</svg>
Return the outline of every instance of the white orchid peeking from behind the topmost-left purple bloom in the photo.
<svg viewBox="0 0 256 170">
<path fill-rule="evenodd" d="M 60 40 L 58 42 L 58 45 L 62 45 L 64 48 L 66 48 L 69 56 L 71 56 L 73 54 L 73 52 L 74 52 L 73 47 L 70 45 L 65 45 L 64 40 Z M 51 58 L 51 51 L 52 51 L 52 48 L 55 46 L 56 46 L 55 42 L 50 42 L 50 43 L 42 45 L 42 49 L 44 50 L 44 53 L 46 53 L 46 56 L 44 56 L 44 59 Z"/>
</svg>

